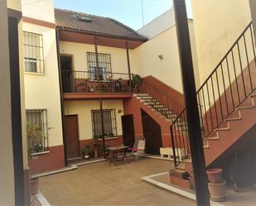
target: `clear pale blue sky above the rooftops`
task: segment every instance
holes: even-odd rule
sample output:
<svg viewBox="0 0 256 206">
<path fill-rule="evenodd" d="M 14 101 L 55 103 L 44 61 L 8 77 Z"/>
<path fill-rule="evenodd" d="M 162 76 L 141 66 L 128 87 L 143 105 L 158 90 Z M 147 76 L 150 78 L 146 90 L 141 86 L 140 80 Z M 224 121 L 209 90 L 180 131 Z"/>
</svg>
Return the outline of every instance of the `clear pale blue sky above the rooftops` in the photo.
<svg viewBox="0 0 256 206">
<path fill-rule="evenodd" d="M 142 0 L 54 0 L 55 7 L 112 17 L 134 30 L 142 27 Z M 143 0 L 144 22 L 152 21 L 172 7 L 172 0 Z M 188 17 L 191 0 L 186 0 Z"/>
</svg>

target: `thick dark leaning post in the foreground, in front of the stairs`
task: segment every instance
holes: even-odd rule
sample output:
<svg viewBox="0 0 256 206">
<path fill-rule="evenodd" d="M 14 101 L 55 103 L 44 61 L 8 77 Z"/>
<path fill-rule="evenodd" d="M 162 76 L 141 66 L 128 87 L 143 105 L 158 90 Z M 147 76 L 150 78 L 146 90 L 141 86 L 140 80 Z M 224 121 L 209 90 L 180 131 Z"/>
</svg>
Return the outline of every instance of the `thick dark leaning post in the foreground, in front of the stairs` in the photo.
<svg viewBox="0 0 256 206">
<path fill-rule="evenodd" d="M 188 30 L 185 0 L 173 0 L 176 18 L 176 35 L 179 46 L 181 77 L 186 104 L 188 137 L 191 146 L 191 159 L 196 180 L 197 205 L 209 206 L 209 192 L 205 171 L 205 154 L 200 132 L 200 116 L 196 99 L 191 42 Z"/>
</svg>

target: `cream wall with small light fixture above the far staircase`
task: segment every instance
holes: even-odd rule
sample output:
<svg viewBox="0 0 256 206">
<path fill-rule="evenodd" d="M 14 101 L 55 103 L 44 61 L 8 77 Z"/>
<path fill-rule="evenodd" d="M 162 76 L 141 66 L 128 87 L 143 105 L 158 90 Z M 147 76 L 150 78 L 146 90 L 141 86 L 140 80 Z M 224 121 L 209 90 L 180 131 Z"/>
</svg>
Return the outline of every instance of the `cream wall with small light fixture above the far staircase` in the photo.
<svg viewBox="0 0 256 206">
<path fill-rule="evenodd" d="M 196 78 L 196 86 L 199 84 L 197 69 L 196 44 L 193 22 L 189 20 L 191 35 L 191 48 Z M 160 60 L 158 55 L 163 55 Z M 181 67 L 176 39 L 176 26 L 163 31 L 151 40 L 131 51 L 131 67 L 134 73 L 141 76 L 152 75 L 172 88 L 183 92 L 181 83 Z"/>
</svg>

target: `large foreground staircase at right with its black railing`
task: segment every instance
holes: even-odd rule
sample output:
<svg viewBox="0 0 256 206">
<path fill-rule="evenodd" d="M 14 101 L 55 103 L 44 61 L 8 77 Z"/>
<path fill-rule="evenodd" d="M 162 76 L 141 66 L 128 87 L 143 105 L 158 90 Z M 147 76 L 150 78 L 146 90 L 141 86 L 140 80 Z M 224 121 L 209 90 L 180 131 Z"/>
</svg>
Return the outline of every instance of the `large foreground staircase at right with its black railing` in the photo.
<svg viewBox="0 0 256 206">
<path fill-rule="evenodd" d="M 205 165 L 218 165 L 227 152 L 234 152 L 246 132 L 256 124 L 256 58 L 252 22 L 234 42 L 224 58 L 197 91 Z M 181 127 L 182 126 L 182 127 Z M 171 123 L 174 148 L 186 148 L 186 154 L 174 154 L 172 184 L 190 188 L 191 150 L 186 109 Z M 247 141 L 247 145 L 250 141 Z"/>
</svg>

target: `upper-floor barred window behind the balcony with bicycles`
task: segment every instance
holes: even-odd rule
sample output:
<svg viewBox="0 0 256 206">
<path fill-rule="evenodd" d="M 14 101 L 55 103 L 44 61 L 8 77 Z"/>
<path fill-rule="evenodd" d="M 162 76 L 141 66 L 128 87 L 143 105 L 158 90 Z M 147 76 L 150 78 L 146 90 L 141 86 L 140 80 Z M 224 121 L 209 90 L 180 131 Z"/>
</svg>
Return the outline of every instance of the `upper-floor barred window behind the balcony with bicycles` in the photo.
<svg viewBox="0 0 256 206">
<path fill-rule="evenodd" d="M 99 79 L 109 79 L 111 75 L 111 58 L 109 54 L 98 53 L 99 60 Z M 87 52 L 87 65 L 89 70 L 89 79 L 97 80 L 96 55 L 94 52 Z"/>
</svg>

